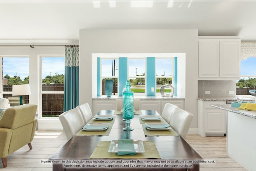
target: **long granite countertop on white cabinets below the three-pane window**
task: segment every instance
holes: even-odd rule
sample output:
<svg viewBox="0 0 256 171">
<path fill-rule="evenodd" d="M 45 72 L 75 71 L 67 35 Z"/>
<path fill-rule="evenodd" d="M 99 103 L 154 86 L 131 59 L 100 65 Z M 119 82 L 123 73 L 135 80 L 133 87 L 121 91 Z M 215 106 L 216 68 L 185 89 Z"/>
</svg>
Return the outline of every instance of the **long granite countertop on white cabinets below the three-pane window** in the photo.
<svg viewBox="0 0 256 171">
<path fill-rule="evenodd" d="M 92 99 L 122 99 L 122 96 L 114 96 L 106 97 L 106 96 L 98 96 Z M 134 96 L 134 99 L 168 99 L 168 100 L 184 100 L 185 98 L 182 97 L 161 97 L 161 96 Z"/>
</svg>

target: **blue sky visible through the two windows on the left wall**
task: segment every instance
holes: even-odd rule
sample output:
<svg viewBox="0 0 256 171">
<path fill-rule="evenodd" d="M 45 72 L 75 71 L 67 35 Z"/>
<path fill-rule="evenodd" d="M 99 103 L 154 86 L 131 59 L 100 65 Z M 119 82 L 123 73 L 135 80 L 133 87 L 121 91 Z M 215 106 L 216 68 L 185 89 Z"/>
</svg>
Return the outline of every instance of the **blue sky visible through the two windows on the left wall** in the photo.
<svg viewBox="0 0 256 171">
<path fill-rule="evenodd" d="M 20 76 L 21 80 L 29 75 L 29 58 L 3 58 L 3 76 L 8 74 L 10 77 Z M 64 57 L 62 58 L 42 58 L 42 78 L 46 76 L 64 74 Z"/>
</svg>

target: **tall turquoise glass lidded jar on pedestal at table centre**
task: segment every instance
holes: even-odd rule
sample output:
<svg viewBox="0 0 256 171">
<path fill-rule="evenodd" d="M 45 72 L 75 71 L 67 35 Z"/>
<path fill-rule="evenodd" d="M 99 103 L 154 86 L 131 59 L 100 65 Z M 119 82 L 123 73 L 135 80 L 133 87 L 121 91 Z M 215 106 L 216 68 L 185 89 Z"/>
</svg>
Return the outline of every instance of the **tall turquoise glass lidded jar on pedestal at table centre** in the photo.
<svg viewBox="0 0 256 171">
<path fill-rule="evenodd" d="M 133 128 L 130 127 L 130 119 L 133 118 L 133 91 L 130 90 L 131 85 L 129 80 L 127 80 L 124 91 L 123 91 L 123 118 L 126 120 L 126 127 L 123 128 L 124 131 L 132 131 Z"/>
</svg>

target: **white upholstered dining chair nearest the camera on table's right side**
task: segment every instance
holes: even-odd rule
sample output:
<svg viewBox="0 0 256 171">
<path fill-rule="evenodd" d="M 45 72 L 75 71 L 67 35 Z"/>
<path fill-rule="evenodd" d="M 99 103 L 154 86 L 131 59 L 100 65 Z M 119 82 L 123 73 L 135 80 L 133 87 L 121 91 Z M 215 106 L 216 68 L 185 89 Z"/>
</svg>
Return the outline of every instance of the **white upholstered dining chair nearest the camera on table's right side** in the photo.
<svg viewBox="0 0 256 171">
<path fill-rule="evenodd" d="M 192 119 L 193 115 L 190 112 L 176 107 L 170 118 L 170 126 L 183 139 L 186 139 Z"/>
</svg>

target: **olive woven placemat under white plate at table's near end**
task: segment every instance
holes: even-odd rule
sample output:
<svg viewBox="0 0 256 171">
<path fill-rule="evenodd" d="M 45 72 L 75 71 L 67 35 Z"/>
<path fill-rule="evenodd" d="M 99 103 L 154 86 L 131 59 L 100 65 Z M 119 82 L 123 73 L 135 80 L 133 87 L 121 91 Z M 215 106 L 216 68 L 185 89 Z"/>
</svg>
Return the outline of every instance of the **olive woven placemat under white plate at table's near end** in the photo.
<svg viewBox="0 0 256 171">
<path fill-rule="evenodd" d="M 154 141 L 143 141 L 145 153 L 117 155 L 109 153 L 110 141 L 99 141 L 90 159 L 161 159 Z"/>
</svg>

